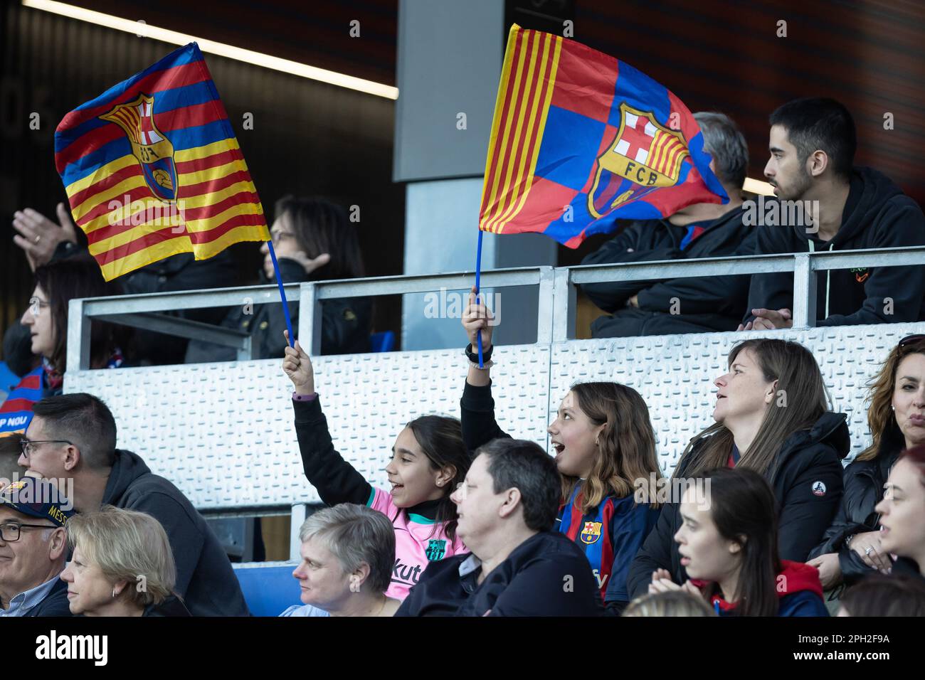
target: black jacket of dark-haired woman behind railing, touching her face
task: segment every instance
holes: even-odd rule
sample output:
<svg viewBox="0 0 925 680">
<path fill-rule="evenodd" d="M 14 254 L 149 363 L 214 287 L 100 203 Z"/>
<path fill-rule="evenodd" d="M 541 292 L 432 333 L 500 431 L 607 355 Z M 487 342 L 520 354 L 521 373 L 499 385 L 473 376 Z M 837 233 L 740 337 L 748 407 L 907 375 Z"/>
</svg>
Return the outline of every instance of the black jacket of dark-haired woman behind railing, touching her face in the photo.
<svg viewBox="0 0 925 680">
<path fill-rule="evenodd" d="M 298 262 L 286 257 L 277 260 L 279 275 L 283 283 L 302 283 L 315 279 L 305 274 Z M 320 279 L 315 279 L 320 280 Z M 274 283 L 261 274 L 262 283 Z M 290 300 L 290 318 L 293 332 L 298 333 L 299 301 Z M 372 328 L 373 303 L 369 298 L 338 298 L 321 301 L 321 353 L 357 354 L 369 352 L 369 333 Z M 255 307 L 240 305 L 232 308 L 221 325 L 250 332 L 251 342 L 256 348 L 255 359 L 278 359 L 286 348 L 283 331 L 286 316 L 282 303 L 258 304 Z M 222 347 L 203 340 L 191 340 L 186 352 L 187 364 L 202 364 L 215 361 L 234 361 L 237 354 L 229 347 Z"/>
</svg>

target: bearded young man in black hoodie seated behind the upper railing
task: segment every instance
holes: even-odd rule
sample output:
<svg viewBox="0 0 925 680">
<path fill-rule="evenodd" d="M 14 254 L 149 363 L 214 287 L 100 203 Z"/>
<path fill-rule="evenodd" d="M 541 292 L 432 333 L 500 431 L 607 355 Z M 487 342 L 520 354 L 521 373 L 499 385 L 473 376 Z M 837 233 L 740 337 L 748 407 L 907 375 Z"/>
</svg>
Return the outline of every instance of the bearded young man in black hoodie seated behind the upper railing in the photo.
<svg viewBox="0 0 925 680">
<path fill-rule="evenodd" d="M 877 170 L 852 167 L 856 148 L 854 119 L 833 99 L 796 99 L 771 114 L 771 158 L 764 175 L 782 202 L 808 206 L 808 218 L 796 220 L 800 224 L 765 221 L 757 229 L 758 253 L 925 244 L 919 204 Z M 776 214 L 785 212 L 795 213 L 782 206 Z M 925 319 L 925 267 L 856 267 L 816 276 L 817 326 Z M 791 328 L 793 298 L 792 274 L 756 274 L 740 328 Z"/>
</svg>

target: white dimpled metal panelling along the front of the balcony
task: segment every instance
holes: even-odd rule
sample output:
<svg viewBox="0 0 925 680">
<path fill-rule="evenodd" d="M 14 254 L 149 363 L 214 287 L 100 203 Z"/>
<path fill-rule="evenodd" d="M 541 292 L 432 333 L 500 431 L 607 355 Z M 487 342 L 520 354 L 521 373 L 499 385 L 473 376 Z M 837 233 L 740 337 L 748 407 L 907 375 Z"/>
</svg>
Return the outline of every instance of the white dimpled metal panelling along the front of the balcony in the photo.
<svg viewBox="0 0 925 680">
<path fill-rule="evenodd" d="M 870 434 L 866 383 L 903 336 L 925 323 L 813 328 L 774 337 L 805 344 L 820 362 L 834 410 L 848 415 L 851 455 Z M 546 427 L 574 382 L 615 380 L 648 403 L 662 470 L 713 421 L 712 381 L 738 340 L 766 333 L 705 333 L 499 347 L 499 425 L 547 446 Z M 459 416 L 466 361 L 455 350 L 317 357 L 318 391 L 335 446 L 375 485 L 395 437 L 423 414 Z M 120 448 L 139 453 L 203 510 L 316 502 L 302 474 L 291 387 L 279 361 L 68 372 L 68 392 L 103 398 Z M 551 397 L 551 398 L 550 398 Z"/>
</svg>

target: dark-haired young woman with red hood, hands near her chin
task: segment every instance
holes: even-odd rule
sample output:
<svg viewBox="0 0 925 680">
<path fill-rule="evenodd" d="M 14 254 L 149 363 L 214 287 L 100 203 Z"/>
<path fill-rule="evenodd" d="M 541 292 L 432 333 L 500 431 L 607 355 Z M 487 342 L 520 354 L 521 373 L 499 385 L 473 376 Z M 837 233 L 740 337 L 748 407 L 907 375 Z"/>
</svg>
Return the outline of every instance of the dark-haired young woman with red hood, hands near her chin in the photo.
<svg viewBox="0 0 925 680">
<path fill-rule="evenodd" d="M 662 569 L 649 592 L 702 593 L 721 616 L 829 615 L 816 569 L 778 557 L 776 501 L 764 476 L 723 467 L 692 481 L 673 537 L 692 580 L 678 585 Z"/>
</svg>

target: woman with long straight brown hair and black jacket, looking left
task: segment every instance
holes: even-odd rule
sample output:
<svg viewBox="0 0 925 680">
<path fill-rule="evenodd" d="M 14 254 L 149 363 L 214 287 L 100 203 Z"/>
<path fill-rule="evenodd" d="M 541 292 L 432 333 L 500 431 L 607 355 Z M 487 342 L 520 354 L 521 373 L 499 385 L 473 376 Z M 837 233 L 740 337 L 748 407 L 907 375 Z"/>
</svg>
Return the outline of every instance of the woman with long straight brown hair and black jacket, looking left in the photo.
<svg viewBox="0 0 925 680">
<path fill-rule="evenodd" d="M 714 384 L 716 422 L 691 439 L 672 488 L 718 467 L 754 470 L 774 491 L 781 558 L 805 562 L 842 498 L 841 459 L 850 445 L 845 414 L 827 411 L 816 359 L 789 340 L 740 342 L 729 353 L 729 372 Z M 633 597 L 646 592 L 659 570 L 677 583 L 686 580 L 672 540 L 682 523 L 677 501 L 666 504 L 630 567 Z"/>
</svg>

